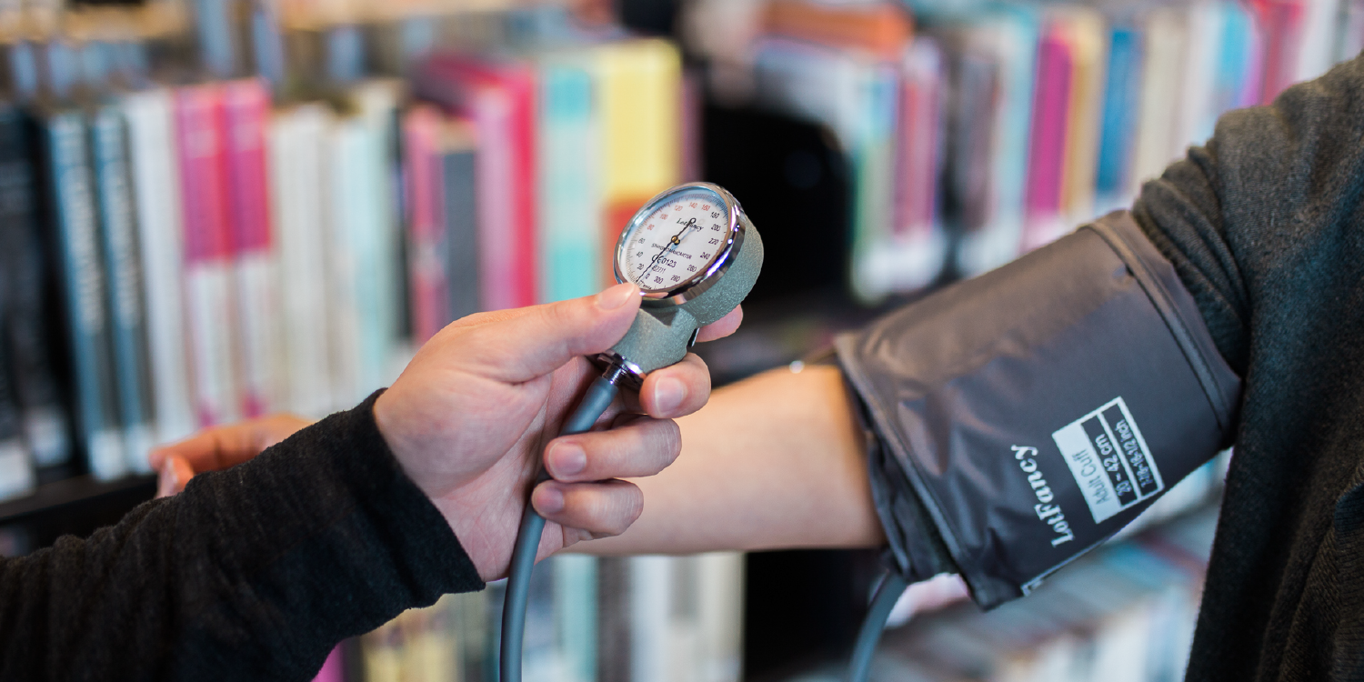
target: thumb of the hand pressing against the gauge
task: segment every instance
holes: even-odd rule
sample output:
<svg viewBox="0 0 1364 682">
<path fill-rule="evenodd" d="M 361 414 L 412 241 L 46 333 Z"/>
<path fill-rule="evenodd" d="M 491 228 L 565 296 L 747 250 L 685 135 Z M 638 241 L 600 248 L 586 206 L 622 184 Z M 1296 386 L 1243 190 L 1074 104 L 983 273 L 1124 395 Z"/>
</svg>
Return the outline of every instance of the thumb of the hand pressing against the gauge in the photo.
<svg viewBox="0 0 1364 682">
<path fill-rule="evenodd" d="M 471 329 L 471 360 L 492 379 L 531 381 L 576 356 L 610 349 L 629 331 L 638 310 L 640 289 L 629 282 L 596 296 L 535 306 Z"/>
</svg>

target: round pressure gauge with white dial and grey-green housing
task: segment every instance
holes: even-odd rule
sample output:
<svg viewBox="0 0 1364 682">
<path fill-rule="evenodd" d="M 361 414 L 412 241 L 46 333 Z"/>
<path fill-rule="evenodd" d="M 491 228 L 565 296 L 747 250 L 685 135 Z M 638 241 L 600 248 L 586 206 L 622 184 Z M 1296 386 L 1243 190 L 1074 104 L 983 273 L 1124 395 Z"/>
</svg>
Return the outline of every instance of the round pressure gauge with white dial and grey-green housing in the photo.
<svg viewBox="0 0 1364 682">
<path fill-rule="evenodd" d="M 723 187 L 687 183 L 640 209 L 615 246 L 615 278 L 640 286 L 644 301 L 630 331 L 599 360 L 630 383 L 682 360 L 705 325 L 727 315 L 753 289 L 762 239 Z"/>
</svg>

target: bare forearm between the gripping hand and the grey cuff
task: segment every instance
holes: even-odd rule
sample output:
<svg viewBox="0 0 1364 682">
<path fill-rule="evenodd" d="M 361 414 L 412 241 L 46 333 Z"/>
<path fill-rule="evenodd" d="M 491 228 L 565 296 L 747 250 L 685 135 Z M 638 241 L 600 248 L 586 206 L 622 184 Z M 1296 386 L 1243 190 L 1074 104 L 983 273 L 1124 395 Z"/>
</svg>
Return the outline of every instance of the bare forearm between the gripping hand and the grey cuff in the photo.
<svg viewBox="0 0 1364 682">
<path fill-rule="evenodd" d="M 591 554 L 690 554 L 884 543 L 862 434 L 835 367 L 773 370 L 678 420 L 682 456 L 648 479 L 644 514 Z"/>
</svg>

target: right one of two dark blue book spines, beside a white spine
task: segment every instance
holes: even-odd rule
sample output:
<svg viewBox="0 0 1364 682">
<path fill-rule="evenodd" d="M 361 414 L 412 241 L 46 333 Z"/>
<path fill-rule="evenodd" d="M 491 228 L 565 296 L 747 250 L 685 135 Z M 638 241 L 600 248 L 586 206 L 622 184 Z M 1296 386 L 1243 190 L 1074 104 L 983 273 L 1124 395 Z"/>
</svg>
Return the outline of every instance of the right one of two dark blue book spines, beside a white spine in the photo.
<svg viewBox="0 0 1364 682">
<path fill-rule="evenodd" d="M 147 473 L 153 439 L 151 360 L 123 113 L 113 105 L 100 106 L 90 121 L 90 132 L 124 451 L 132 471 Z"/>
</svg>

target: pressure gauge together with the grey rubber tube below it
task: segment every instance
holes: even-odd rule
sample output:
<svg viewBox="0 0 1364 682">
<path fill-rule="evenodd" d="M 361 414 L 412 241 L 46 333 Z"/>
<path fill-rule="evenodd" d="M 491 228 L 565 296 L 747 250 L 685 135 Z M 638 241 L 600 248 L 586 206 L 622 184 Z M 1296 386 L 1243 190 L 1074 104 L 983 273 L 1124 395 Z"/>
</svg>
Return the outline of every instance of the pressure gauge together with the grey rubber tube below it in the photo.
<svg viewBox="0 0 1364 682">
<path fill-rule="evenodd" d="M 682 228 L 672 233 L 671 225 L 678 224 Z M 693 233 L 702 237 L 689 239 Z M 647 254 L 653 256 L 645 261 Z M 761 267 L 762 239 L 724 188 L 687 183 L 645 203 L 615 246 L 617 281 L 636 282 L 644 301 L 625 337 L 596 357 L 606 371 L 588 387 L 561 435 L 591 430 L 622 382 L 637 390 L 645 374 L 686 357 L 697 330 L 734 310 Z M 544 518 L 527 503 L 502 610 L 502 682 L 521 682 L 525 604 L 543 531 Z"/>
</svg>

